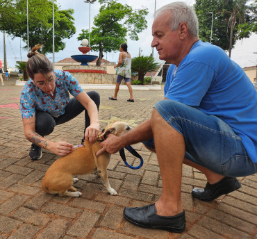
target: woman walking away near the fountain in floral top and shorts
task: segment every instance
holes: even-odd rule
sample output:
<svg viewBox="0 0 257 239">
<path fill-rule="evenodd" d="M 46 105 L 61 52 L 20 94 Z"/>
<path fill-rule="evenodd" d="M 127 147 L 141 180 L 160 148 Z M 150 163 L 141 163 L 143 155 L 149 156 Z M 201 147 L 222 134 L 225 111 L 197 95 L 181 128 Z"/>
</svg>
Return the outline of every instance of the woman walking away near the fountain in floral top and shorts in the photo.
<svg viewBox="0 0 257 239">
<path fill-rule="evenodd" d="M 113 97 L 109 97 L 111 100 L 117 100 L 117 94 L 119 92 L 119 85 L 122 83 L 122 80 L 126 82 L 126 86 L 128 87 L 128 91 L 130 97 L 127 101 L 134 102 L 133 92 L 131 87 L 131 54 L 128 53 L 128 45 L 126 43 L 122 43 L 119 47 L 119 62 L 114 68 L 117 68 L 117 79 L 116 79 L 116 87 L 115 93 Z"/>
</svg>

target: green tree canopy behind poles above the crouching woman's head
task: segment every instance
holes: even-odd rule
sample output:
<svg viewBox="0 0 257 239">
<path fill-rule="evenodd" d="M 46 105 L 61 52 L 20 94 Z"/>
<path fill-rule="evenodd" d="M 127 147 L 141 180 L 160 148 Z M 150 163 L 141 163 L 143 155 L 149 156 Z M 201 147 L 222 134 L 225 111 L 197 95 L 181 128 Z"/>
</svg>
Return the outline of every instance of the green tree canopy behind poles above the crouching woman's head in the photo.
<svg viewBox="0 0 257 239">
<path fill-rule="evenodd" d="M 74 10 L 60 10 L 54 4 L 55 51 L 65 49 L 63 39 L 76 32 Z M 20 37 L 27 43 L 26 0 L 0 0 L 0 31 L 13 38 Z M 51 0 L 28 0 L 28 44 L 30 49 L 41 41 L 43 53 L 53 50 L 53 2 Z"/>
</svg>

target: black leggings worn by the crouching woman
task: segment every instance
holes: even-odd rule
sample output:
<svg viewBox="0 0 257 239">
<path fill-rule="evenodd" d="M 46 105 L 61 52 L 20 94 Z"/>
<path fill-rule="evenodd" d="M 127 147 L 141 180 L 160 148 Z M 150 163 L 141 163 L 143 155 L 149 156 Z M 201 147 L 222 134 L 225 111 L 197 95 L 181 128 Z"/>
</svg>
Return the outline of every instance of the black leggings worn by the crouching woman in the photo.
<svg viewBox="0 0 257 239">
<path fill-rule="evenodd" d="M 95 91 L 87 92 L 88 96 L 97 105 L 97 110 L 99 110 L 100 105 L 100 95 Z M 59 117 L 53 117 L 44 111 L 35 111 L 35 131 L 39 133 L 42 137 L 49 135 L 53 132 L 53 129 L 58 124 L 63 124 L 73 119 L 81 112 L 85 110 L 85 129 L 90 126 L 90 117 L 88 116 L 88 110 L 76 99 L 72 98 L 67 106 L 65 107 L 65 113 Z M 85 135 L 84 129 L 84 135 Z"/>
</svg>

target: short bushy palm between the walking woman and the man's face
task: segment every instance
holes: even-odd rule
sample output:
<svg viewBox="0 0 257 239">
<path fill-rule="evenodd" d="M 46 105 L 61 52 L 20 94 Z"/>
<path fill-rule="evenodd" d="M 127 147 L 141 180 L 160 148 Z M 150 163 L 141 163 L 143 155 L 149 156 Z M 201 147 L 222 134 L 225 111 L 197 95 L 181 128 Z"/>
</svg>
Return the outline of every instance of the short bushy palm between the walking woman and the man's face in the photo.
<svg viewBox="0 0 257 239">
<path fill-rule="evenodd" d="M 138 72 L 138 80 L 141 81 L 141 85 L 144 85 L 144 75 L 156 70 L 158 65 L 151 56 L 138 56 L 131 60 L 131 71 Z"/>
</svg>

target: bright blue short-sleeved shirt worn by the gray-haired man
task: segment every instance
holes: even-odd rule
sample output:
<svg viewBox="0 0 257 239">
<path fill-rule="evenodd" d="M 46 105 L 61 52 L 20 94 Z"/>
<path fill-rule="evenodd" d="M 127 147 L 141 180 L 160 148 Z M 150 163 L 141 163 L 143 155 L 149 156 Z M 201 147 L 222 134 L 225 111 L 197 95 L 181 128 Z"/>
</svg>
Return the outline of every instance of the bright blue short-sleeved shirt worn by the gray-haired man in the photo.
<svg viewBox="0 0 257 239">
<path fill-rule="evenodd" d="M 195 42 L 179 67 L 170 65 L 165 97 L 229 124 L 257 163 L 257 92 L 243 69 L 221 48 Z"/>
</svg>

